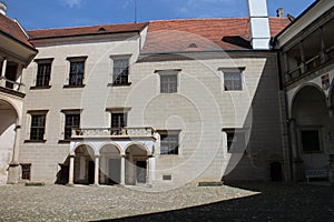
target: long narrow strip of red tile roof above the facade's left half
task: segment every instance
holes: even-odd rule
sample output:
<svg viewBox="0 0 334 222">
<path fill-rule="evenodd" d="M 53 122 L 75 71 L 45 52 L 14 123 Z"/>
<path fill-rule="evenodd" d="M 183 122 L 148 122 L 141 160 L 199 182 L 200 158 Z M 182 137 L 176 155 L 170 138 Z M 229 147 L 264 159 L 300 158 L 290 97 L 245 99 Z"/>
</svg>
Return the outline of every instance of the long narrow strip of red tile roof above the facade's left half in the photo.
<svg viewBox="0 0 334 222">
<path fill-rule="evenodd" d="M 124 23 L 124 24 L 100 24 L 91 27 L 75 27 L 75 28 L 60 28 L 60 29 L 39 29 L 28 31 L 31 40 L 63 38 L 63 37 L 79 37 L 102 33 L 118 33 L 141 31 L 148 23 Z"/>
</svg>

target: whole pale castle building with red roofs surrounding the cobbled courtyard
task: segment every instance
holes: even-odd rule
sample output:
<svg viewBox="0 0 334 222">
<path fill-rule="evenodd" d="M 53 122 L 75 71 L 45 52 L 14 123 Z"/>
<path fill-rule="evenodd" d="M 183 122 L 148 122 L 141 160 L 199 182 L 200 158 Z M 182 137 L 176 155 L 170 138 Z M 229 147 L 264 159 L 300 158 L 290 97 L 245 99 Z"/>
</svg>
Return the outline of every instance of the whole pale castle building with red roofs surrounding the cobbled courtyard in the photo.
<svg viewBox="0 0 334 222">
<path fill-rule="evenodd" d="M 330 4 L 293 22 L 248 0 L 248 18 L 30 31 L 0 14 L 0 173 L 9 183 L 179 185 L 328 168 L 332 112 L 320 87 L 303 84 L 333 79 Z"/>
</svg>

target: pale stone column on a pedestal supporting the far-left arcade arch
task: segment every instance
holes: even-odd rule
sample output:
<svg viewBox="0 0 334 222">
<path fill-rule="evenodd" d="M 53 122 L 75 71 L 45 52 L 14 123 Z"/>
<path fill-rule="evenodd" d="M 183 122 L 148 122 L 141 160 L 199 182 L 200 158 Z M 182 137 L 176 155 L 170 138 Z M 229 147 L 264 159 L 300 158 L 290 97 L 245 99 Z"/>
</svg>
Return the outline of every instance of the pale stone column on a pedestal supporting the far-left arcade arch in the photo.
<svg viewBox="0 0 334 222">
<path fill-rule="evenodd" d="M 13 144 L 12 151 L 12 160 L 9 163 L 8 170 L 8 184 L 16 184 L 19 182 L 20 179 L 20 164 L 19 164 L 19 142 L 20 142 L 20 134 L 21 134 L 21 125 L 17 125 L 16 129 L 16 139 Z"/>
</svg>

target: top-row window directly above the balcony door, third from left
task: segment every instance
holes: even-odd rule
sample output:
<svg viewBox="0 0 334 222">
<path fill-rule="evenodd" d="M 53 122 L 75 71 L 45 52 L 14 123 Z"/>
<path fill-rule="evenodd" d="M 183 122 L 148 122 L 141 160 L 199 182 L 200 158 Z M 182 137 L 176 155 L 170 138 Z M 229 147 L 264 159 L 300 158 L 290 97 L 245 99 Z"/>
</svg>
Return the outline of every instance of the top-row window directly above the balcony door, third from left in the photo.
<svg viewBox="0 0 334 222">
<path fill-rule="evenodd" d="M 129 59 L 114 59 L 114 84 L 128 85 L 129 84 Z"/>
</svg>

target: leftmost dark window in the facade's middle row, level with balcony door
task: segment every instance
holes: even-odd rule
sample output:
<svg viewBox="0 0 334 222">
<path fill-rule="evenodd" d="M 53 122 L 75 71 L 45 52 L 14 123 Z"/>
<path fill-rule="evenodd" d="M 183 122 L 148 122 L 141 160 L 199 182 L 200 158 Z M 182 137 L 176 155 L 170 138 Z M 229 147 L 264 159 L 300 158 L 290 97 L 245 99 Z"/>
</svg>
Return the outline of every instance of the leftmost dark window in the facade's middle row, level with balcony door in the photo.
<svg viewBox="0 0 334 222">
<path fill-rule="evenodd" d="M 46 114 L 31 114 L 30 140 L 43 141 L 46 131 Z"/>
</svg>

